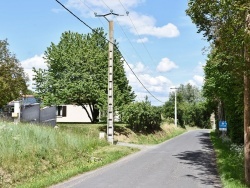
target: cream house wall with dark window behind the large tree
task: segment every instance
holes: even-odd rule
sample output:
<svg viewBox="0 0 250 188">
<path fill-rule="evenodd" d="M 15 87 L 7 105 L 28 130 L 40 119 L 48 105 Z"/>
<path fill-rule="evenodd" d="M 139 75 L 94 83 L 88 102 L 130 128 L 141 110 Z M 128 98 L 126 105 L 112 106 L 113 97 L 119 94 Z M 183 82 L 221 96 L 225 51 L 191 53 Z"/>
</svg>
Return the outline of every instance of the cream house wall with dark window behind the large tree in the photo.
<svg viewBox="0 0 250 188">
<path fill-rule="evenodd" d="M 89 123 L 91 122 L 86 111 L 77 105 L 62 105 L 66 107 L 66 114 L 59 112 L 60 116 L 57 116 L 56 121 L 59 123 Z M 89 106 L 86 106 L 90 113 Z M 59 109 L 60 110 L 60 109 Z M 91 114 L 91 113 L 90 113 Z"/>
</svg>

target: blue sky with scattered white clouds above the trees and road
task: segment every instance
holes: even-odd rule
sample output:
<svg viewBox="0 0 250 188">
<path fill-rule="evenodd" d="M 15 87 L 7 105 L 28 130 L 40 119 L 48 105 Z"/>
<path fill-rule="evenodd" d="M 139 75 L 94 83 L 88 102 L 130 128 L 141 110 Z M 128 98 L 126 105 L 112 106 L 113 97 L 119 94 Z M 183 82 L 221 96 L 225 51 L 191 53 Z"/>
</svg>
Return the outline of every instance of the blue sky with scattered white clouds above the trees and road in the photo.
<svg viewBox="0 0 250 188">
<path fill-rule="evenodd" d="M 141 101 L 148 96 L 152 105 L 163 105 L 171 88 L 204 81 L 203 66 L 209 44 L 197 33 L 186 15 L 188 0 L 59 0 L 91 28 L 114 21 L 114 38 L 125 63 L 129 84 Z M 113 12 L 119 16 L 109 15 Z M 57 44 L 65 31 L 81 34 L 91 30 L 67 12 L 56 0 L 0 1 L 0 40 L 7 39 L 32 86 L 32 68 L 46 69 L 43 54 L 51 43 Z M 115 74 L 115 73 L 114 73 Z"/>
</svg>

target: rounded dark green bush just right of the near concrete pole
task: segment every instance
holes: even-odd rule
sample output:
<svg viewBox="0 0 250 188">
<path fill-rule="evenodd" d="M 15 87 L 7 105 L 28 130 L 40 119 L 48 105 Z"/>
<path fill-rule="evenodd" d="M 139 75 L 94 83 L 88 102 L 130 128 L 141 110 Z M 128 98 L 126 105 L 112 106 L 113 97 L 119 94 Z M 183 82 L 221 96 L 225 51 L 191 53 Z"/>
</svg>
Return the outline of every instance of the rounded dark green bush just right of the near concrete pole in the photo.
<svg viewBox="0 0 250 188">
<path fill-rule="evenodd" d="M 123 120 L 133 131 L 151 132 L 159 130 L 161 125 L 161 109 L 152 106 L 147 100 L 134 102 L 123 110 Z"/>
</svg>

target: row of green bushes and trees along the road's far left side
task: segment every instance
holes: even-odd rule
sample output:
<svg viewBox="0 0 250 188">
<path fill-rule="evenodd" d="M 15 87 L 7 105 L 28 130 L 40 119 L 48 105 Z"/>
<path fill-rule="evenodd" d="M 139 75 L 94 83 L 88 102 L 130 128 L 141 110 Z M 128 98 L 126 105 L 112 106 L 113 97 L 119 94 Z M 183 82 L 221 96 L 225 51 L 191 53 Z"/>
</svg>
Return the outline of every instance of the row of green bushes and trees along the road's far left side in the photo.
<svg viewBox="0 0 250 188">
<path fill-rule="evenodd" d="M 202 95 L 202 90 L 191 84 L 180 85 L 176 90 L 177 125 L 211 128 L 211 114 L 214 109 Z M 163 106 L 153 106 L 148 101 L 134 102 L 122 111 L 122 120 L 137 132 L 159 130 L 162 121 L 174 123 L 175 93 L 171 92 L 169 100 Z"/>
</svg>

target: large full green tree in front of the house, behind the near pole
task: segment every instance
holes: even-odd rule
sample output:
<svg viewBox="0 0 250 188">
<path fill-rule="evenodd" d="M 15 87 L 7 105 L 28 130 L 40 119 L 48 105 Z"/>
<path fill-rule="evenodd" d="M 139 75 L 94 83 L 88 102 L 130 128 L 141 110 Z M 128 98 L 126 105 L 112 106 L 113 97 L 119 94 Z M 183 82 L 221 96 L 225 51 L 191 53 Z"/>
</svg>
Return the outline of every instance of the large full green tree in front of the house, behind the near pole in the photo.
<svg viewBox="0 0 250 188">
<path fill-rule="evenodd" d="M 114 104 L 119 110 L 135 98 L 121 61 L 114 50 Z M 47 70 L 34 69 L 36 90 L 46 105 L 82 106 L 92 123 L 107 108 L 108 42 L 103 29 L 85 35 L 64 32 L 60 42 L 45 51 Z M 90 107 L 89 114 L 86 106 Z"/>
</svg>

